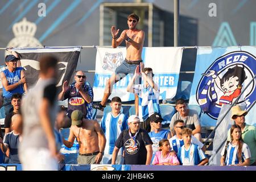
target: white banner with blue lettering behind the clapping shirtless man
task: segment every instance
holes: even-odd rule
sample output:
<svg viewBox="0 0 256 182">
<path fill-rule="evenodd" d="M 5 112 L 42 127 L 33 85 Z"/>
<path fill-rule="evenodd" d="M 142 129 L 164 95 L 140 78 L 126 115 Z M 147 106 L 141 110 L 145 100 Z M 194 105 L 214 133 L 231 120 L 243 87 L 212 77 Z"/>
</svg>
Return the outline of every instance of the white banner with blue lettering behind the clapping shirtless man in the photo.
<svg viewBox="0 0 256 182">
<path fill-rule="evenodd" d="M 173 98 L 176 94 L 182 53 L 182 47 L 144 47 L 142 50 L 144 67 L 152 68 L 153 79 L 159 85 L 159 100 Z M 125 58 L 125 47 L 97 47 L 93 101 L 101 101 L 106 82 Z M 126 75 L 114 84 L 110 100 L 115 96 L 120 97 L 123 102 L 134 100 L 134 94 L 126 92 L 133 74 Z"/>
</svg>

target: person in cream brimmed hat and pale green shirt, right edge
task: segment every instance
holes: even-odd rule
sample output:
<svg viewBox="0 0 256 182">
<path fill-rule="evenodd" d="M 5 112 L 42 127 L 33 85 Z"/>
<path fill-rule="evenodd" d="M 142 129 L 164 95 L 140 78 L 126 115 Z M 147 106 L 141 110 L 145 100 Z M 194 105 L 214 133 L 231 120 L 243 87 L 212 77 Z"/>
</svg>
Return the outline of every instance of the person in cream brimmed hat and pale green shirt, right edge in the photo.
<svg viewBox="0 0 256 182">
<path fill-rule="evenodd" d="M 256 166 L 256 129 L 255 126 L 247 125 L 245 123 L 245 115 L 247 111 L 242 110 L 240 106 L 236 105 L 231 109 L 231 118 L 234 120 L 236 125 L 241 127 L 242 139 L 251 151 L 250 166 Z M 228 141 L 231 140 L 230 129 L 228 131 Z"/>
</svg>

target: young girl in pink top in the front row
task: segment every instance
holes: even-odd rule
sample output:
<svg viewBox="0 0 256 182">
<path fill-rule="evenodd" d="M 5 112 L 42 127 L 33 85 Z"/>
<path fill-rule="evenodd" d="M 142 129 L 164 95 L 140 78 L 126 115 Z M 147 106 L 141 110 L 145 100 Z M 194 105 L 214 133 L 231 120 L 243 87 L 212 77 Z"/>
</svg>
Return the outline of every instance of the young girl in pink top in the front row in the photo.
<svg viewBox="0 0 256 182">
<path fill-rule="evenodd" d="M 179 160 L 176 154 L 171 154 L 170 143 L 168 139 L 162 139 L 159 142 L 160 150 L 156 152 L 153 165 L 179 165 Z"/>
</svg>

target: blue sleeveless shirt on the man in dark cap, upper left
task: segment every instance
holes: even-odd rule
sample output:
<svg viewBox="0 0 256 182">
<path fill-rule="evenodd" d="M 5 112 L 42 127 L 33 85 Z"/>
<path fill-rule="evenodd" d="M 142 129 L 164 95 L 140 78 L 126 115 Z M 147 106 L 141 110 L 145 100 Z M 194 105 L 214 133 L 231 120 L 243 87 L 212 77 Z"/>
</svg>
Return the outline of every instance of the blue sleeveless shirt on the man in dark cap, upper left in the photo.
<svg viewBox="0 0 256 182">
<path fill-rule="evenodd" d="M 15 69 L 14 72 L 10 72 L 9 69 L 5 69 L 3 71 L 3 73 L 5 74 L 5 77 L 7 79 L 8 85 L 13 85 L 16 82 L 20 81 L 20 74 L 21 74 L 22 70 L 23 70 L 22 67 L 18 67 Z M 23 85 L 20 84 L 15 89 L 10 90 L 10 91 L 6 91 L 5 87 L 3 86 L 3 97 L 11 98 L 11 96 L 13 96 L 14 93 L 23 94 L 24 93 Z"/>
</svg>

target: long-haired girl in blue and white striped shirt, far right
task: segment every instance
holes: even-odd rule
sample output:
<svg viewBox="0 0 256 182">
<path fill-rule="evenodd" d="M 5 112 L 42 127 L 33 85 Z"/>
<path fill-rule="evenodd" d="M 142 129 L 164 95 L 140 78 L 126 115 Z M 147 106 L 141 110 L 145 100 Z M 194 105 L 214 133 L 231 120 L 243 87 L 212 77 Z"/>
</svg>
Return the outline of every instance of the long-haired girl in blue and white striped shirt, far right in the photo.
<svg viewBox="0 0 256 182">
<path fill-rule="evenodd" d="M 221 166 L 249 166 L 251 152 L 241 137 L 241 127 L 232 125 L 230 129 L 231 142 L 221 151 Z"/>
</svg>

